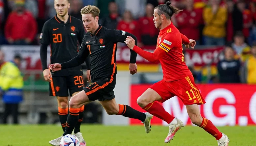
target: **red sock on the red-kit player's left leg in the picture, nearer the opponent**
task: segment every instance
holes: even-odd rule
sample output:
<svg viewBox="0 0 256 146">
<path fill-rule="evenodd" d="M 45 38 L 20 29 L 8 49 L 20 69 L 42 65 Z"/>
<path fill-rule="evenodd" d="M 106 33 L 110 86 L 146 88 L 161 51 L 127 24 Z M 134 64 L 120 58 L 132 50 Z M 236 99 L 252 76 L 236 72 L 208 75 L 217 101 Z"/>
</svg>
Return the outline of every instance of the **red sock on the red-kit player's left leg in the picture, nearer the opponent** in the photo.
<svg viewBox="0 0 256 146">
<path fill-rule="evenodd" d="M 174 116 L 165 111 L 164 108 L 157 102 L 150 103 L 143 109 L 156 116 L 157 118 L 164 120 L 167 122 L 167 124 L 170 124 L 174 119 Z"/>
</svg>

